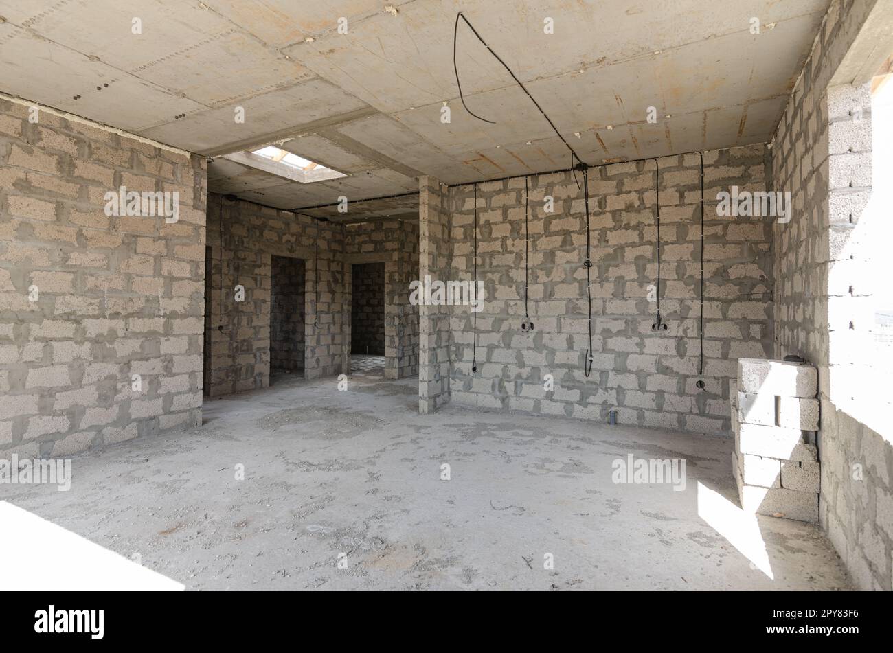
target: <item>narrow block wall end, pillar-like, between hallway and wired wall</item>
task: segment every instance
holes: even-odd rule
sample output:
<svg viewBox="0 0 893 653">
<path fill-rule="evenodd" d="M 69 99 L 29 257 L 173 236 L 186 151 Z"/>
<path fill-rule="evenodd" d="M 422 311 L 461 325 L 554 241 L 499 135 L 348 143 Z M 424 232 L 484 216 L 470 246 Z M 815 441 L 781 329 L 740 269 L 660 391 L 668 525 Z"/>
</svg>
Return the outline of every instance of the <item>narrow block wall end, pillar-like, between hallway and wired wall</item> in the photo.
<svg viewBox="0 0 893 653">
<path fill-rule="evenodd" d="M 419 278 L 452 278 L 451 211 L 447 186 L 419 178 Z M 419 412 L 431 413 L 450 401 L 450 307 L 419 306 Z"/>
</svg>

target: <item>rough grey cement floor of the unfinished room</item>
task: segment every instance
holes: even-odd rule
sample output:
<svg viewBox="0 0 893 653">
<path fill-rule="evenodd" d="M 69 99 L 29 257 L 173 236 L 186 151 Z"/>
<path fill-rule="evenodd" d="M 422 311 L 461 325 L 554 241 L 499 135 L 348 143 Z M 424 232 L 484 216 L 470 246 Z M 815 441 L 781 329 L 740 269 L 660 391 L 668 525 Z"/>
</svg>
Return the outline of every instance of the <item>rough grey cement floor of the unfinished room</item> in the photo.
<svg viewBox="0 0 893 653">
<path fill-rule="evenodd" d="M 421 416 L 417 379 L 337 383 L 205 401 L 204 426 L 74 459 L 70 492 L 5 485 L 0 498 L 192 590 L 849 587 L 813 525 L 760 517 L 770 579 L 698 517 L 698 483 L 736 502 L 728 439 L 454 406 Z M 630 453 L 688 459 L 686 490 L 613 484 Z"/>
</svg>

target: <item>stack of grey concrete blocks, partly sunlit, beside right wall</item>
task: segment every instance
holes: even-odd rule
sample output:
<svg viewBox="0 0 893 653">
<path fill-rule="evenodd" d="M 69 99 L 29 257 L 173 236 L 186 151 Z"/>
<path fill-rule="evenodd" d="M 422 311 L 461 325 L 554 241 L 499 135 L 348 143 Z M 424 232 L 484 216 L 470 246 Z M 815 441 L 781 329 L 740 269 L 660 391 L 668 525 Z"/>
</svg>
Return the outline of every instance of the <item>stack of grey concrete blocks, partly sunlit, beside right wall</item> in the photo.
<svg viewBox="0 0 893 653">
<path fill-rule="evenodd" d="M 732 468 L 746 512 L 819 519 L 818 374 L 805 363 L 739 359 Z"/>
</svg>

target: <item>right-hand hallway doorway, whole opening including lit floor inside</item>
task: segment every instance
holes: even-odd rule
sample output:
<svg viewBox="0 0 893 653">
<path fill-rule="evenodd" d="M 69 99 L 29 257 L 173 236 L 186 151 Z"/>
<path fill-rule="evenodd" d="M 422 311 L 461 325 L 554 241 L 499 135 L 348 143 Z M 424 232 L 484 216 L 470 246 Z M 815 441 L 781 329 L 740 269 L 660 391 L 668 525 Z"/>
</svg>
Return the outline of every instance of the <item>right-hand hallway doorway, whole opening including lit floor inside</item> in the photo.
<svg viewBox="0 0 893 653">
<path fill-rule="evenodd" d="M 351 269 L 350 371 L 385 374 L 385 264 L 355 263 Z"/>
</svg>

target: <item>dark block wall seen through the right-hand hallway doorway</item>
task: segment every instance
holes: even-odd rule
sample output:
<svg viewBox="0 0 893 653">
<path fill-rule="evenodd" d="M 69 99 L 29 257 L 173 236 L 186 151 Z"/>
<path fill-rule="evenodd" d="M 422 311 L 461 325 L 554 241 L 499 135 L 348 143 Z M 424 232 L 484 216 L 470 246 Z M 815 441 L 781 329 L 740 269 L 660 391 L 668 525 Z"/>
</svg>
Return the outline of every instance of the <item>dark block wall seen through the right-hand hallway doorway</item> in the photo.
<svg viewBox="0 0 893 653">
<path fill-rule="evenodd" d="M 351 353 L 384 356 L 385 264 L 355 263 L 351 275 Z"/>
</svg>

